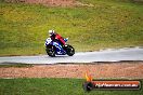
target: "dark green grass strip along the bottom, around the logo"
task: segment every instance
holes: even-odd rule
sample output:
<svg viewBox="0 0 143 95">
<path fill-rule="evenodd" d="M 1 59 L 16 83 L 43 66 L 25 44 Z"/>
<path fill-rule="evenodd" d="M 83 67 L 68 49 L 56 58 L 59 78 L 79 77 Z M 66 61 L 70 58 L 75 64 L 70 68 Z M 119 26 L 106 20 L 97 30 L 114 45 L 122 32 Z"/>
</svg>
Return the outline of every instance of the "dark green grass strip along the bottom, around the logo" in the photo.
<svg viewBox="0 0 143 95">
<path fill-rule="evenodd" d="M 0 79 L 0 95 L 142 95 L 143 93 L 143 89 L 87 93 L 82 90 L 83 82 L 83 79 Z"/>
</svg>

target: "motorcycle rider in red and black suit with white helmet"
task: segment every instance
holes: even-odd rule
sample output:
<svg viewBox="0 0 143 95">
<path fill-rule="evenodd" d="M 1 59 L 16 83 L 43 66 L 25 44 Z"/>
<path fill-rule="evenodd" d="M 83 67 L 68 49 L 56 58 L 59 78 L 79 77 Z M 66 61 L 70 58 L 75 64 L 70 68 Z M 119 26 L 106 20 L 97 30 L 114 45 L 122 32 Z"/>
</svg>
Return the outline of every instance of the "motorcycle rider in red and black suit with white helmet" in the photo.
<svg viewBox="0 0 143 95">
<path fill-rule="evenodd" d="M 54 30 L 49 30 L 49 36 L 52 41 L 60 42 L 62 46 L 66 44 L 64 38 L 61 35 L 56 33 Z"/>
</svg>

